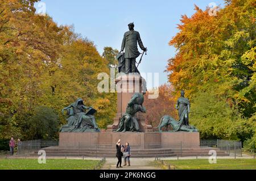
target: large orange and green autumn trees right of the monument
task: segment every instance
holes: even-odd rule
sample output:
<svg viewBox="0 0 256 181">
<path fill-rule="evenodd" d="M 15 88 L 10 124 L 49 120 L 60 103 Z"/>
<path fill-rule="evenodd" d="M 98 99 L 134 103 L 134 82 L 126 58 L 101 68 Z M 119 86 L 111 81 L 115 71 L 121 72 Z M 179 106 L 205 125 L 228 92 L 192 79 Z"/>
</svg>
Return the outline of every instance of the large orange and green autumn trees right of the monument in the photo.
<svg viewBox="0 0 256 181">
<path fill-rule="evenodd" d="M 229 0 L 216 16 L 195 6 L 170 41 L 169 81 L 192 102 L 191 124 L 204 138 L 247 141 L 255 147 L 255 2 Z M 179 95 L 176 95 L 176 98 Z"/>
</svg>

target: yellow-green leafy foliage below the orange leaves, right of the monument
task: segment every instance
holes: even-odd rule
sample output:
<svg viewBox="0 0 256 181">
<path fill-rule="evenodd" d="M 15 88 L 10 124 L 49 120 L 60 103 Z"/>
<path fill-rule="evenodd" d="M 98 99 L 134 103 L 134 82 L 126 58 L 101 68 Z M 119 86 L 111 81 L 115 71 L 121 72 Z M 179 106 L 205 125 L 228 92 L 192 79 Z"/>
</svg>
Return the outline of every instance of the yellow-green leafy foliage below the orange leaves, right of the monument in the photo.
<svg viewBox="0 0 256 181">
<path fill-rule="evenodd" d="M 191 104 L 191 124 L 200 130 L 203 138 L 242 140 L 252 133 L 252 123 L 242 119 L 237 108 L 214 95 L 214 90 L 197 92 Z"/>
</svg>

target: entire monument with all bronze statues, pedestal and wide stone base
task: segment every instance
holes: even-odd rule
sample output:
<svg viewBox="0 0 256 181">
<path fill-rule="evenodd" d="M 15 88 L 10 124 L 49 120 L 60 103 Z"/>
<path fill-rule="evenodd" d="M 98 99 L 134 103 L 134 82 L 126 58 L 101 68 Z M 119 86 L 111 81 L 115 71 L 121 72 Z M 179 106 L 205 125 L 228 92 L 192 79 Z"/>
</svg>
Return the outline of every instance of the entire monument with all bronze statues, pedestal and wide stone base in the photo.
<svg viewBox="0 0 256 181">
<path fill-rule="evenodd" d="M 125 33 L 121 51 L 117 55 L 119 72 L 119 76 L 115 79 L 117 113 L 113 124 L 108 125 L 106 132 L 98 132 L 99 129 L 93 116 L 96 111 L 89 114 L 81 111 L 81 109 L 88 109 L 88 107 L 85 107 L 81 100 L 77 100 L 78 103 L 73 103 L 64 109 L 69 111 L 72 107 L 75 110 L 75 115 L 72 112 L 68 114 L 73 117 L 68 118 L 68 124 L 61 129 L 60 147 L 76 148 L 81 145 L 97 145 L 97 148 L 102 147 L 102 154 L 104 154 L 106 152 L 104 150 L 115 149 L 115 143 L 119 139 L 129 142 L 133 149 L 138 150 L 139 153 L 149 148 L 154 148 L 149 150 L 152 152 L 159 151 L 158 149 L 166 148 L 166 145 L 180 144 L 181 142 L 200 145 L 199 132 L 190 132 L 190 130 L 184 132 L 185 129 L 183 129 L 189 127 L 189 101 L 184 96 L 178 100 L 177 108 L 179 109 L 180 120 L 176 121 L 170 117 L 164 117 L 159 125 L 161 128 L 166 125 L 171 125 L 173 128 L 179 127 L 176 132 L 154 131 L 152 125 L 146 123 L 144 117 L 146 108 L 143 107 L 144 95 L 147 91 L 146 81 L 139 73 L 138 65 L 144 53 L 147 52 L 147 48 L 144 47 L 139 32 L 134 30 L 134 23 L 130 23 L 128 27 L 129 31 Z M 136 58 L 141 54 L 138 45 L 143 53 L 136 65 Z M 125 52 L 123 52 L 124 50 Z M 80 106 L 77 108 L 77 105 Z"/>
</svg>

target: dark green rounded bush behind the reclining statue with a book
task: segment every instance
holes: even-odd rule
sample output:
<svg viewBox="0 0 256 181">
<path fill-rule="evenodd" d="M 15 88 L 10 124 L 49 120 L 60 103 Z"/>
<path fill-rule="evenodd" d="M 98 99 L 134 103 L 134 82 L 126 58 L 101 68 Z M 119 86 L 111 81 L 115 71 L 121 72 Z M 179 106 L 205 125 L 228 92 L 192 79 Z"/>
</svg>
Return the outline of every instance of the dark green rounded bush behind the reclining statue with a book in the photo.
<svg viewBox="0 0 256 181">
<path fill-rule="evenodd" d="M 36 107 L 34 116 L 27 122 L 27 140 L 51 140 L 56 138 L 59 128 L 59 117 L 52 108 Z"/>
</svg>

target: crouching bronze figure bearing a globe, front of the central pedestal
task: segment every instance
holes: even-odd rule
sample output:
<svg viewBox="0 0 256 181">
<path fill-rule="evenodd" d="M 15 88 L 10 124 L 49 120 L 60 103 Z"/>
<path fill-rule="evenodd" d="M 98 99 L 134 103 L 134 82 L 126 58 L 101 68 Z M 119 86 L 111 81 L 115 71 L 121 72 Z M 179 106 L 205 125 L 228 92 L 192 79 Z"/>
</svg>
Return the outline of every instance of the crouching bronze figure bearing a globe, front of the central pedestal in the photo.
<svg viewBox="0 0 256 181">
<path fill-rule="evenodd" d="M 139 132 L 139 123 L 135 118 L 135 113 L 146 112 L 143 107 L 144 97 L 142 94 L 135 93 L 126 108 L 125 115 L 122 116 L 118 129 L 115 132 Z"/>
</svg>

